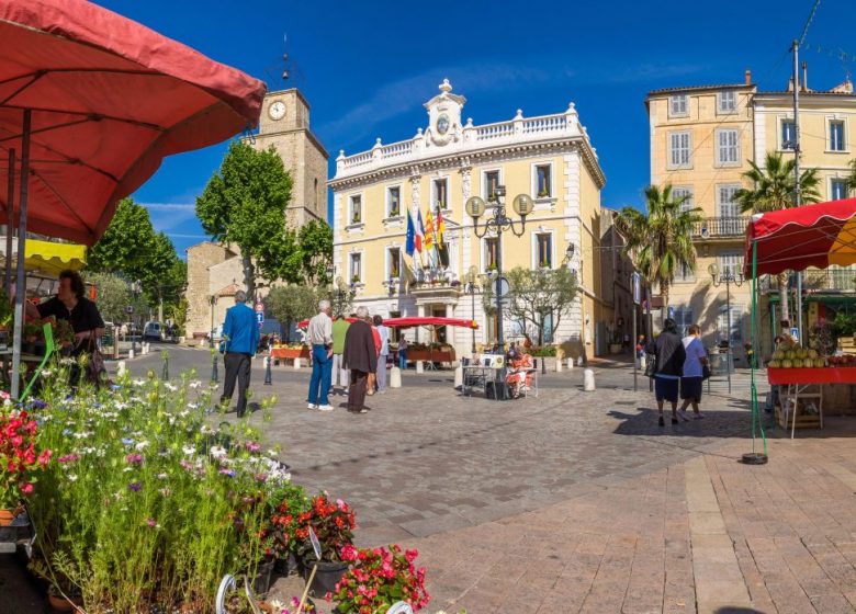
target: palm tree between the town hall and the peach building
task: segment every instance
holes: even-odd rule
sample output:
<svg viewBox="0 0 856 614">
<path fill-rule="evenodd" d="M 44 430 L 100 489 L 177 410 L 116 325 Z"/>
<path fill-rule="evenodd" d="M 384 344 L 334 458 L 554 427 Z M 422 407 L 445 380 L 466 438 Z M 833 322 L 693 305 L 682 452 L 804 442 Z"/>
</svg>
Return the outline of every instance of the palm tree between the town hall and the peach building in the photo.
<svg viewBox="0 0 856 614">
<path fill-rule="evenodd" d="M 662 318 L 668 311 L 668 291 L 683 268 L 696 270 L 696 247 L 692 245 L 692 226 L 701 221 L 701 208 L 687 208 L 688 196 L 674 197 L 672 185 L 663 190 L 656 185 L 645 189 L 643 213 L 634 207 L 623 207 L 616 219 L 619 232 L 624 237 L 624 253 L 647 280 L 658 284 L 663 295 Z"/>
</svg>

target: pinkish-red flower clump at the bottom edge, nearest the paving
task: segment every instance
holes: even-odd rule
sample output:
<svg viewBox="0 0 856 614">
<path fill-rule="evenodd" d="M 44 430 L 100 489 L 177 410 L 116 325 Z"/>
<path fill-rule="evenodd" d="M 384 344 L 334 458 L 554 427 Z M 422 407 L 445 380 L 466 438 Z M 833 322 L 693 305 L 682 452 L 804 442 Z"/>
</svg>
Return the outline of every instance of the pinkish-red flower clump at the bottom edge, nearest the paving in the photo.
<svg viewBox="0 0 856 614">
<path fill-rule="evenodd" d="M 425 568 L 416 568 L 416 550 L 404 550 L 397 544 L 390 548 L 342 548 L 342 558 L 351 568 L 336 584 L 331 595 L 338 602 L 339 614 L 386 612 L 404 601 L 418 612 L 430 600 L 425 590 Z"/>
</svg>

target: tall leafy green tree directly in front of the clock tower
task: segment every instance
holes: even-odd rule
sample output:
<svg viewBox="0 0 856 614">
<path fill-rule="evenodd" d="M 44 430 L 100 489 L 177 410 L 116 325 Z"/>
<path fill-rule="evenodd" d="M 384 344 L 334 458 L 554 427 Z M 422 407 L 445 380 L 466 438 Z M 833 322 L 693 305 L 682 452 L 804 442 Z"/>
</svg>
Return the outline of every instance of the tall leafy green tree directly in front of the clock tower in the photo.
<svg viewBox="0 0 856 614">
<path fill-rule="evenodd" d="M 233 141 L 219 171 L 196 198 L 196 216 L 214 240 L 240 248 L 247 295 L 256 295 L 256 269 L 275 280 L 295 249 L 285 207 L 292 179 L 273 147 L 257 151 Z"/>
</svg>

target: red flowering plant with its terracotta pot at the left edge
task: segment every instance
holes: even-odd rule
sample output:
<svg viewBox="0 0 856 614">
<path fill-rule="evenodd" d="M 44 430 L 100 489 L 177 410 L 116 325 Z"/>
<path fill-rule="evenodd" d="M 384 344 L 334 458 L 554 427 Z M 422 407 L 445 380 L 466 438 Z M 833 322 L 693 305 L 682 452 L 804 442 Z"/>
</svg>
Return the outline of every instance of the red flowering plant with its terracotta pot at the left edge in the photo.
<svg viewBox="0 0 856 614">
<path fill-rule="evenodd" d="M 0 398 L 9 402 L 7 393 Z M 35 490 L 35 471 L 50 459 L 49 450 L 38 454 L 36 432 L 36 421 L 26 411 L 9 405 L 0 410 L 0 542 L 14 542 L 29 532 L 23 502 Z"/>
</svg>

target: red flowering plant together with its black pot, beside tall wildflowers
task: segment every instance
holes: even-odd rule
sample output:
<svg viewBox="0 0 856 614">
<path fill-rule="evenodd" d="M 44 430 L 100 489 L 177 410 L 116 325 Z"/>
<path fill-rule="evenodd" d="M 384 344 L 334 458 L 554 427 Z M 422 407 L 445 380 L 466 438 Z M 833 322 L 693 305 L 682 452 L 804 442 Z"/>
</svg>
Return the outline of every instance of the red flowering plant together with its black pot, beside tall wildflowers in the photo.
<svg viewBox="0 0 856 614">
<path fill-rule="evenodd" d="M 315 595 L 333 591 L 348 569 L 348 561 L 341 558 L 341 550 L 343 546 L 352 544 L 356 526 L 350 507 L 341 499 L 330 501 L 324 493 L 313 497 L 309 509 L 297 515 L 297 527 L 294 531 L 299 541 L 297 556 L 303 560 L 305 573 L 309 573 L 312 567 L 317 565 L 311 588 Z M 320 544 L 320 559 L 315 557 L 309 528 Z"/>
</svg>

